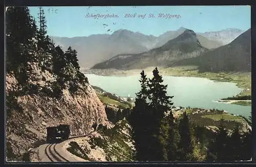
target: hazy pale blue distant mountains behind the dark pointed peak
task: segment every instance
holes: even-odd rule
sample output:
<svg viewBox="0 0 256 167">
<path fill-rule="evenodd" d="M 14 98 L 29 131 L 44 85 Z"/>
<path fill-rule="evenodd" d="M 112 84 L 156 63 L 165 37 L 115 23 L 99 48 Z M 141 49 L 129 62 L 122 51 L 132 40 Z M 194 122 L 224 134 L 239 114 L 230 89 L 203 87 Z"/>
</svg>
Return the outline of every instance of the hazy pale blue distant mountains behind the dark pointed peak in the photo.
<svg viewBox="0 0 256 167">
<path fill-rule="evenodd" d="M 90 68 L 94 64 L 109 60 L 119 54 L 138 54 L 164 45 L 167 41 L 178 37 L 185 28 L 167 31 L 160 36 L 145 35 L 139 32 L 120 29 L 113 34 L 94 34 L 88 37 L 54 37 L 56 45 L 63 50 L 69 46 L 77 50 L 81 67 Z M 196 33 L 201 45 L 206 49 L 215 49 L 227 41 L 232 41 L 243 33 L 238 29 L 226 29 L 218 32 Z"/>
</svg>

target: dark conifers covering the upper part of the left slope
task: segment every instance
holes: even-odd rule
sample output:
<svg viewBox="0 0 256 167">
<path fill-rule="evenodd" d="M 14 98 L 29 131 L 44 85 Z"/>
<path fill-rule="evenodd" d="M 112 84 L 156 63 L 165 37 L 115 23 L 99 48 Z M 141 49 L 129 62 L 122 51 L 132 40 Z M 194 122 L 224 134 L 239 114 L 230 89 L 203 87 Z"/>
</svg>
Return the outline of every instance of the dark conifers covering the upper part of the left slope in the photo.
<svg viewBox="0 0 256 167">
<path fill-rule="evenodd" d="M 88 83 L 79 71 L 77 51 L 70 46 L 63 52 L 60 46 L 55 46 L 47 35 L 47 21 L 42 7 L 39 7 L 38 20 L 39 28 L 28 7 L 9 7 L 6 11 L 7 73 L 14 74 L 22 94 L 45 93 L 46 96 L 61 98 L 65 88 L 75 94 L 79 87 Z M 35 65 L 42 72 L 49 71 L 56 81 L 48 82 L 48 87 L 36 84 L 38 79 L 32 77 Z"/>
</svg>

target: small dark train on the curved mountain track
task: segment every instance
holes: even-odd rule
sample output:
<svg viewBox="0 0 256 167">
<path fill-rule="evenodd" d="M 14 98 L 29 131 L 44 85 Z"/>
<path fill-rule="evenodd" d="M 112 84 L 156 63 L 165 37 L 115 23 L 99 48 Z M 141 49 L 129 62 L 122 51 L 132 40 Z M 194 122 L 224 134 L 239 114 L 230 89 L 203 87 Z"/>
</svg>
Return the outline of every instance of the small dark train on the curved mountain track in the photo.
<svg viewBox="0 0 256 167">
<path fill-rule="evenodd" d="M 60 124 L 55 127 L 47 127 L 46 141 L 66 140 L 70 136 L 70 125 Z"/>
</svg>

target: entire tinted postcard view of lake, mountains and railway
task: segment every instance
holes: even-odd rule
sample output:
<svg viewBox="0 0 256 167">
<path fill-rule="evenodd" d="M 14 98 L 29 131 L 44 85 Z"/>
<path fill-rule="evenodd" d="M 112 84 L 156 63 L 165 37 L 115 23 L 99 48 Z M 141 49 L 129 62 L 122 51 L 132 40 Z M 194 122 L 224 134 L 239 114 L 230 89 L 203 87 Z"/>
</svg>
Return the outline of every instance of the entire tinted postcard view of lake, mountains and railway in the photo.
<svg viewBox="0 0 256 167">
<path fill-rule="evenodd" d="M 6 162 L 255 159 L 248 7 L 50 8 L 5 10 Z"/>
</svg>

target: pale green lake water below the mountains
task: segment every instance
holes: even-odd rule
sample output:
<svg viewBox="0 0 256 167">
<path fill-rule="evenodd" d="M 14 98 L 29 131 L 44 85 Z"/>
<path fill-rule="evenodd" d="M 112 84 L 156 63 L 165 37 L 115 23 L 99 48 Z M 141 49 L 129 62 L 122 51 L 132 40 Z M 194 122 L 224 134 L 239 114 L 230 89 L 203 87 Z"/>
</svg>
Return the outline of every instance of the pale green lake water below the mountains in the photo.
<svg viewBox="0 0 256 167">
<path fill-rule="evenodd" d="M 136 97 L 136 92 L 140 90 L 140 75 L 125 77 L 118 76 L 98 76 L 85 74 L 89 83 L 98 86 L 105 91 L 118 94 L 122 97 Z M 147 75 L 152 78 L 152 76 Z M 225 110 L 229 113 L 251 115 L 251 106 L 240 106 L 216 102 L 218 99 L 232 97 L 242 89 L 235 83 L 215 82 L 206 78 L 197 77 L 173 77 L 163 76 L 164 84 L 167 84 L 167 94 L 174 96 L 172 102 L 174 106 L 198 107 L 205 109 Z"/>
</svg>

